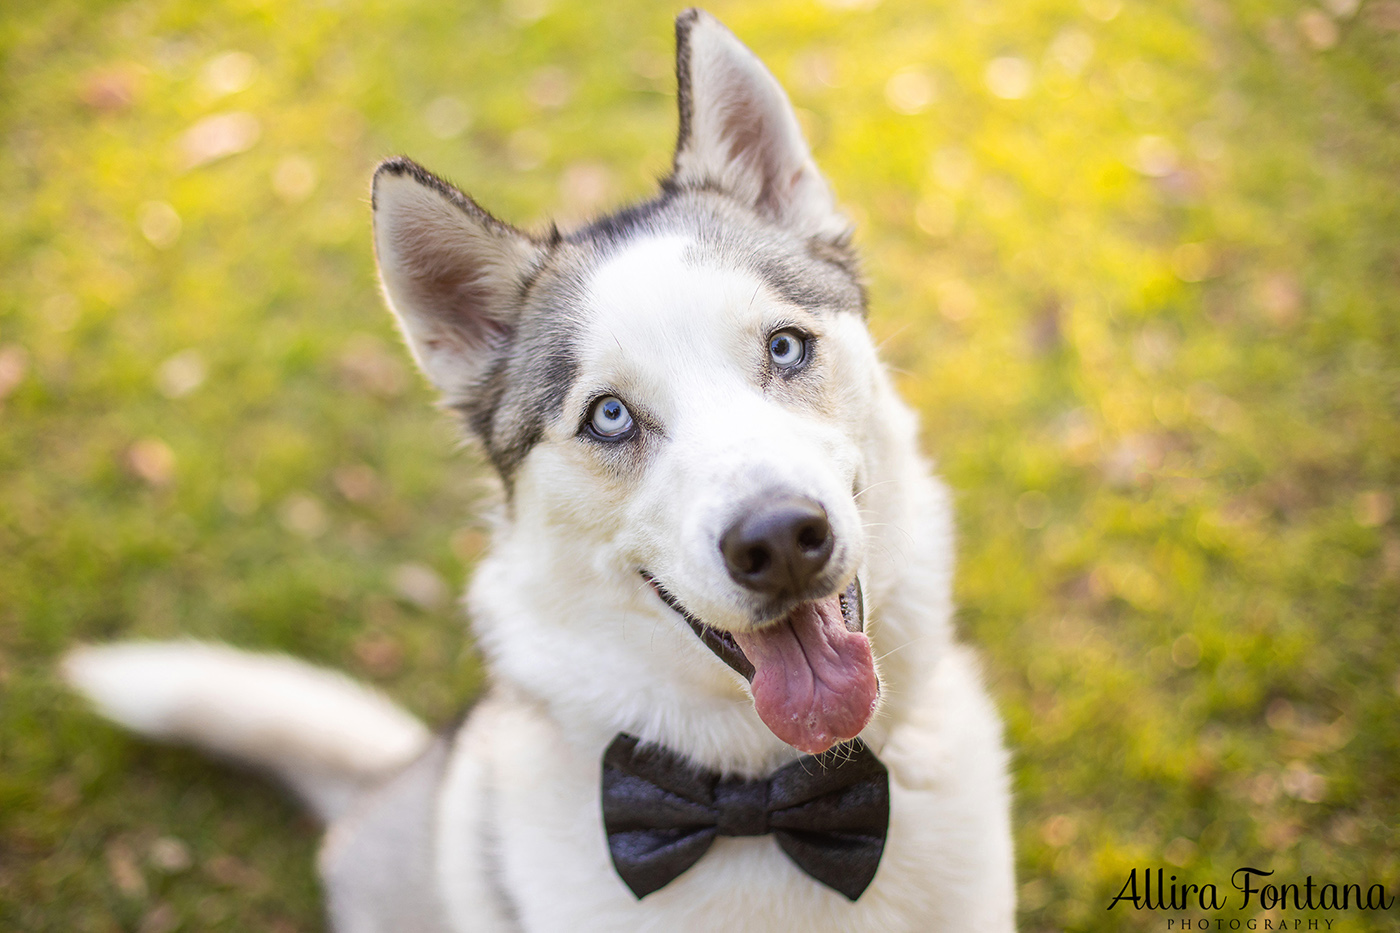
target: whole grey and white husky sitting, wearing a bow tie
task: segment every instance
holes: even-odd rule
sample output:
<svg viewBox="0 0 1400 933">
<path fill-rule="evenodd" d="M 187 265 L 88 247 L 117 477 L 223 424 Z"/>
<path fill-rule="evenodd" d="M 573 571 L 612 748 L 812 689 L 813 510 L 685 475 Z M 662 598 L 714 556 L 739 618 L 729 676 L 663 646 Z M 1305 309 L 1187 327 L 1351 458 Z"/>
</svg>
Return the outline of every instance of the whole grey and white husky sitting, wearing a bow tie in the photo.
<svg viewBox="0 0 1400 933">
<path fill-rule="evenodd" d="M 763 64 L 697 10 L 676 45 L 650 202 L 533 237 L 406 158 L 374 175 L 389 307 L 503 485 L 466 721 L 210 644 L 66 661 L 112 719 L 295 789 L 340 933 L 1014 927 L 948 496 L 850 224 Z"/>
</svg>

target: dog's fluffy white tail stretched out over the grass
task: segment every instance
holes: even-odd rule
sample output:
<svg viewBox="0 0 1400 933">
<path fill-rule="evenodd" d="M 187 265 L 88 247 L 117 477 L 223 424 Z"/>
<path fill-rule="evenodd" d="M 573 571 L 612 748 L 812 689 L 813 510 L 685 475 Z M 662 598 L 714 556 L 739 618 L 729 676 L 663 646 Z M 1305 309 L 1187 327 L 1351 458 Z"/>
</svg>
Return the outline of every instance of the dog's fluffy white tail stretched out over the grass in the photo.
<svg viewBox="0 0 1400 933">
<path fill-rule="evenodd" d="M 63 675 L 127 728 L 270 770 L 328 822 L 431 738 L 382 693 L 279 654 L 127 642 L 69 651 Z"/>
</svg>

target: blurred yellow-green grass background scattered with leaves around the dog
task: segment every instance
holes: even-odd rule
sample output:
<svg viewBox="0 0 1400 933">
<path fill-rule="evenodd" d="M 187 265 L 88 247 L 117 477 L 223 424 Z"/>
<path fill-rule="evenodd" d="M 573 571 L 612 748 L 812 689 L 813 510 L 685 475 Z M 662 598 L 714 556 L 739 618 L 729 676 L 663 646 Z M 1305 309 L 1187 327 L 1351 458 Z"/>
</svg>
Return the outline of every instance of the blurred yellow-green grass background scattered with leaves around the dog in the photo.
<svg viewBox="0 0 1400 933">
<path fill-rule="evenodd" d="M 956 490 L 1023 929 L 1165 929 L 1106 911 L 1133 867 L 1400 895 L 1400 3 L 713 11 L 858 220 Z M 381 307 L 367 181 L 407 153 L 521 224 L 648 193 L 675 13 L 4 3 L 0 927 L 321 929 L 316 828 L 55 660 L 192 635 L 472 696 L 489 482 Z"/>
</svg>

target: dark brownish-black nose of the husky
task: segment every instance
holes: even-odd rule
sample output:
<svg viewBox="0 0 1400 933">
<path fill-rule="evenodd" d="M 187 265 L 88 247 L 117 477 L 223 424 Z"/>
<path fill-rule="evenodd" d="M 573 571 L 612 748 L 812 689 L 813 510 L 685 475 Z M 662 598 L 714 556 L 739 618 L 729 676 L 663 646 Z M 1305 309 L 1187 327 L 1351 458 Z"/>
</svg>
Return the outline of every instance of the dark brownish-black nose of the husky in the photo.
<svg viewBox="0 0 1400 933">
<path fill-rule="evenodd" d="M 826 510 L 804 496 L 760 502 L 724 532 L 720 552 L 734 581 L 769 595 L 802 595 L 832 558 Z"/>
</svg>

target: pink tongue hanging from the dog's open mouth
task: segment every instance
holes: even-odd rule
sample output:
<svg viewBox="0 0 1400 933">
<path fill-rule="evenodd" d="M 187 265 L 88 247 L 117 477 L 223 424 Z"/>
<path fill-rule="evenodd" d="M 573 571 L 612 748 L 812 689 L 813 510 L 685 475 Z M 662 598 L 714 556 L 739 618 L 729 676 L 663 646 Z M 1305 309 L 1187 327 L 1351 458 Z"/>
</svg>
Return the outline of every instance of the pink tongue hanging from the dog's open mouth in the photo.
<svg viewBox="0 0 1400 933">
<path fill-rule="evenodd" d="M 809 755 L 855 738 L 875 713 L 871 643 L 841 619 L 840 597 L 804 602 L 781 622 L 734 633 L 753 664 L 753 706 L 788 745 Z"/>
</svg>

